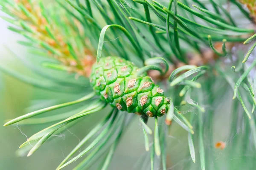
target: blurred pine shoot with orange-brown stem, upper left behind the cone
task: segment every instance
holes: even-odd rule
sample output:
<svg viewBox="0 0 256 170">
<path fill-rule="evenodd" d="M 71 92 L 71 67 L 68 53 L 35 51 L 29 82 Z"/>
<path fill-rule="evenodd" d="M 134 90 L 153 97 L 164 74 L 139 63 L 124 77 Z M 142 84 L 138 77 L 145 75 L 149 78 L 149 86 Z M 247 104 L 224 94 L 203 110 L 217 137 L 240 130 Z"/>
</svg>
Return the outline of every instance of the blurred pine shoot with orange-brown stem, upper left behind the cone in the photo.
<svg viewBox="0 0 256 170">
<path fill-rule="evenodd" d="M 54 6 L 49 10 L 41 1 L 16 0 L 12 3 L 13 6 L 6 3 L 5 8 L 15 18 L 12 23 L 22 28 L 17 30 L 18 33 L 28 38 L 32 45 L 44 48 L 49 56 L 66 67 L 65 71 L 90 76 L 95 51 L 86 41 L 77 38 L 87 39 L 79 20 L 65 14 L 63 10 L 52 12 L 55 7 L 59 7 Z M 61 18 L 58 17 L 60 14 Z M 4 19 L 10 21 L 9 18 Z M 16 28 L 12 30 L 15 31 Z M 59 70 L 61 65 L 51 68 Z"/>
</svg>

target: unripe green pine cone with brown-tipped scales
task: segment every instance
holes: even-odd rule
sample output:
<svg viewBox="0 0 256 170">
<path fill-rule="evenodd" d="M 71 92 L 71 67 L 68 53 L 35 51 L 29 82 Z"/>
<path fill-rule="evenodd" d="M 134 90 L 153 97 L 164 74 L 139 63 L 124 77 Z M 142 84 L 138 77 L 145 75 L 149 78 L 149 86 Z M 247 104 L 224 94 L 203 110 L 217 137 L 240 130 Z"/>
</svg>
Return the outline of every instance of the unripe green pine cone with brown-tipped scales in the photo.
<svg viewBox="0 0 256 170">
<path fill-rule="evenodd" d="M 101 99 L 121 111 L 139 115 L 163 116 L 169 98 L 146 74 L 137 76 L 138 68 L 120 57 L 102 58 L 94 64 L 90 83 Z"/>
</svg>

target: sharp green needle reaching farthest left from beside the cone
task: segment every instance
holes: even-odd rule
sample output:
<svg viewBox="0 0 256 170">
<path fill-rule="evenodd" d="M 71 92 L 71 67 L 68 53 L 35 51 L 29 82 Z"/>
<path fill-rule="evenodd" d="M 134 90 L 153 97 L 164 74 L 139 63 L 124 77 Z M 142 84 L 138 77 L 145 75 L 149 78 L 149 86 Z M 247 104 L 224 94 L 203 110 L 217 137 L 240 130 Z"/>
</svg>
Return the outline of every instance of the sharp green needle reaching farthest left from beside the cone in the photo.
<svg viewBox="0 0 256 170">
<path fill-rule="evenodd" d="M 75 105 L 75 104 L 80 103 L 80 102 L 84 102 L 84 101 L 86 101 L 88 99 L 91 99 L 93 96 L 95 96 L 94 92 L 90 93 L 90 94 L 88 94 L 88 95 L 86 95 L 86 96 L 84 96 L 84 97 L 82 97 L 80 99 L 72 101 L 72 102 L 62 103 L 62 104 L 59 104 L 59 105 L 50 106 L 48 108 L 43 108 L 43 109 L 40 109 L 38 111 L 33 111 L 31 113 L 27 113 L 27 114 L 25 114 L 23 116 L 19 116 L 19 117 L 15 118 L 15 119 L 12 119 L 11 121 L 9 121 L 6 124 L 4 124 L 4 126 L 12 125 L 12 124 L 20 122 L 20 121 L 22 121 L 24 119 L 28 119 L 28 118 L 33 117 L 33 116 L 37 116 L 37 115 L 39 115 L 41 113 L 45 113 L 45 112 L 48 112 L 48 111 L 53 111 L 53 110 L 56 110 L 56 109 L 59 109 L 59 108 L 64 108 L 64 107 L 67 107 L 67 106 Z"/>
</svg>

